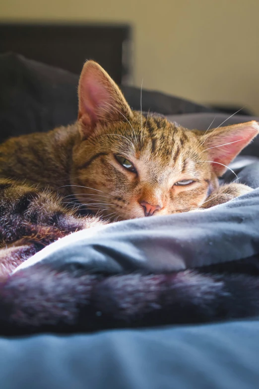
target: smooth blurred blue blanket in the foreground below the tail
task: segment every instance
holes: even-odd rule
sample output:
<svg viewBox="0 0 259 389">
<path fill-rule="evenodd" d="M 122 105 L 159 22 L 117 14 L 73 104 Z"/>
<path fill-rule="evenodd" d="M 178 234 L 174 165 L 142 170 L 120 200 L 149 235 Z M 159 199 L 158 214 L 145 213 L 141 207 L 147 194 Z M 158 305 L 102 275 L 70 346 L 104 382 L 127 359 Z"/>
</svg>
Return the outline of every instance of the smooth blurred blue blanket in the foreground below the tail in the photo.
<svg viewBox="0 0 259 389">
<path fill-rule="evenodd" d="M 2 389 L 256 389 L 259 321 L 0 339 Z"/>
</svg>

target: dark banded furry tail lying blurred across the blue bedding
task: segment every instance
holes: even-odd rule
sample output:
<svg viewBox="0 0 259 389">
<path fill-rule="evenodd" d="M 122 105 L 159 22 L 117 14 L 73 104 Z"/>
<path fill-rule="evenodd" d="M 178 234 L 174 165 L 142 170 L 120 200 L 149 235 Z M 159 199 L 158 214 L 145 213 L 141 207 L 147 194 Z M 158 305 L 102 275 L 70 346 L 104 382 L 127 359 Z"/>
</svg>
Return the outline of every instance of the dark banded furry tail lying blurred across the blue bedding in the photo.
<svg viewBox="0 0 259 389">
<path fill-rule="evenodd" d="M 98 277 L 82 271 L 58 273 L 38 265 L 0 284 L 0 333 L 4 335 L 206 322 L 258 314 L 259 279 L 242 274 L 187 270 Z"/>
</svg>

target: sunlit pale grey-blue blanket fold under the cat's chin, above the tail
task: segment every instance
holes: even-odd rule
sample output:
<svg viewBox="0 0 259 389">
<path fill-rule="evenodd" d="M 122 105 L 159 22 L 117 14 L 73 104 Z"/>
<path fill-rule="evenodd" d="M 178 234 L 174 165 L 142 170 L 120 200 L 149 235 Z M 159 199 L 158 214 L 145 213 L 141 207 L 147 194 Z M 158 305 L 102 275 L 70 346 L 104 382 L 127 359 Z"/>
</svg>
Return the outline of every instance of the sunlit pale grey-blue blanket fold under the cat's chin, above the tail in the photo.
<svg viewBox="0 0 259 389">
<path fill-rule="evenodd" d="M 259 162 L 245 168 L 256 170 Z M 252 177 L 254 179 L 254 176 Z M 16 269 L 48 264 L 90 273 L 169 272 L 259 254 L 259 189 L 203 212 L 133 219 L 83 230 L 44 248 Z"/>
</svg>

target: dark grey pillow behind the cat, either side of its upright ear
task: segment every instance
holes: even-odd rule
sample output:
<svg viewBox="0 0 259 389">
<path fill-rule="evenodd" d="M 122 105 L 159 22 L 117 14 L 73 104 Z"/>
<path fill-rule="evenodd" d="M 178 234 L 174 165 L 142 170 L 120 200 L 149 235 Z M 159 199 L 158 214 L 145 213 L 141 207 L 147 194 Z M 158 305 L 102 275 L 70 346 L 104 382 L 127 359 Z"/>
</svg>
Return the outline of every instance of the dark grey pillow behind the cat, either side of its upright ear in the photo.
<svg viewBox="0 0 259 389">
<path fill-rule="evenodd" d="M 49 131 L 77 118 L 78 76 L 28 60 L 0 55 L 0 142 L 8 137 Z M 129 105 L 140 110 L 140 89 L 122 86 Z M 143 111 L 161 114 L 210 112 L 209 108 L 159 92 L 142 90 Z"/>
</svg>

